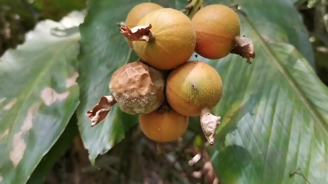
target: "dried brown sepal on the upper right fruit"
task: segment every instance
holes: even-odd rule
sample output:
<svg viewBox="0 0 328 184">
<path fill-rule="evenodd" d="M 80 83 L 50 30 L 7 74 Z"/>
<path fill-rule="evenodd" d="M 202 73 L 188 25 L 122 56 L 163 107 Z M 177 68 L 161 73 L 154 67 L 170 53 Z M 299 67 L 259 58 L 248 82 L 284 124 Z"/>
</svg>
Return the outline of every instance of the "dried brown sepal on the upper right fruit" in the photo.
<svg viewBox="0 0 328 184">
<path fill-rule="evenodd" d="M 247 59 L 247 63 L 251 64 L 250 58 L 255 58 L 255 50 L 253 41 L 245 36 L 236 36 L 234 38 L 236 47 L 231 51 L 232 54 L 238 54 Z"/>
</svg>

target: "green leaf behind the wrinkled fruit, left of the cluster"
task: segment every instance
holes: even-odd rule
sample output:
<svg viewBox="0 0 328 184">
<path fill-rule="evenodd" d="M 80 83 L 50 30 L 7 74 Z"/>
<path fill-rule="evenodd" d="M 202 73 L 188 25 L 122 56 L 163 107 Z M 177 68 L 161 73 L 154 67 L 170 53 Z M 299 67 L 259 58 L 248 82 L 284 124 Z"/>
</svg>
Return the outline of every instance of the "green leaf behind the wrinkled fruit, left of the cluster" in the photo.
<svg viewBox="0 0 328 184">
<path fill-rule="evenodd" d="M 80 26 L 79 55 L 80 105 L 77 109 L 78 126 L 92 163 L 98 154 L 106 153 L 124 138 L 125 130 L 137 123 L 137 117 L 114 106 L 108 117 L 95 127 L 86 112 L 109 95 L 109 81 L 120 66 L 136 60 L 116 23 L 124 21 L 129 10 L 142 1 L 89 1 L 89 11 Z"/>
</svg>

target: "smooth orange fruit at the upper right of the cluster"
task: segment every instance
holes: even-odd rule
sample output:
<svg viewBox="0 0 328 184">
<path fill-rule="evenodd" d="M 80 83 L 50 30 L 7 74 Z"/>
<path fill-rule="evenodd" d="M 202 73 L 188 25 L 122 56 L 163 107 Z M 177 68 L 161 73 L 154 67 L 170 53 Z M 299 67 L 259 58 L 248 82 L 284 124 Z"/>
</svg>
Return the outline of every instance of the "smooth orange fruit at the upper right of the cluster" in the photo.
<svg viewBox="0 0 328 184">
<path fill-rule="evenodd" d="M 234 37 L 240 34 L 239 17 L 227 6 L 204 7 L 191 21 L 197 35 L 195 51 L 209 59 L 227 56 L 234 47 Z"/>
</svg>

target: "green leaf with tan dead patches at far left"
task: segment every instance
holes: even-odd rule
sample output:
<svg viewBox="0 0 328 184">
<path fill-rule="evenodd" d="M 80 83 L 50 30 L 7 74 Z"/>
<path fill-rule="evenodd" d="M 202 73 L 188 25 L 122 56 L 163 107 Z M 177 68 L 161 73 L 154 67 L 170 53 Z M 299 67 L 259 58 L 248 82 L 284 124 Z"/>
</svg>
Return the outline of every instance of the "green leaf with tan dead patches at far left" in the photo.
<svg viewBox="0 0 328 184">
<path fill-rule="evenodd" d="M 0 182 L 25 183 L 78 105 L 78 26 L 45 20 L 0 58 Z"/>
</svg>

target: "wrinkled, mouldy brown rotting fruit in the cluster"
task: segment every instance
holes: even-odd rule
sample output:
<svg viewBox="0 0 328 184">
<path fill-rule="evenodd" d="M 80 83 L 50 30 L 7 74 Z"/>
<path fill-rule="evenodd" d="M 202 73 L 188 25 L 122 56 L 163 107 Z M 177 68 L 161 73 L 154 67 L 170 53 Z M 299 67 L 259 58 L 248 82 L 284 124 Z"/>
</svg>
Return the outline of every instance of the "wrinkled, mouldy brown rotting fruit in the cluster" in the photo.
<svg viewBox="0 0 328 184">
<path fill-rule="evenodd" d="M 164 99 L 165 79 L 162 73 L 136 61 L 119 68 L 109 88 L 120 109 L 129 114 L 149 113 Z"/>
</svg>

